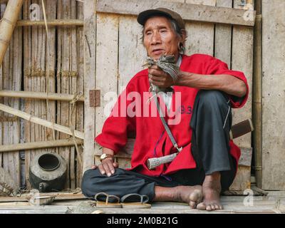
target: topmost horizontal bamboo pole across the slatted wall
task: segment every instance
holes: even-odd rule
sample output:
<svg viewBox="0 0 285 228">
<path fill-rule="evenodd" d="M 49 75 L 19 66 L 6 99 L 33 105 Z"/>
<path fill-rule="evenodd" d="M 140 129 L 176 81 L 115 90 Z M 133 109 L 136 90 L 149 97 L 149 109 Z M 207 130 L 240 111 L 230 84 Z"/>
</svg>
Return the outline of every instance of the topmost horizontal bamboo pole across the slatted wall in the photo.
<svg viewBox="0 0 285 228">
<path fill-rule="evenodd" d="M 53 19 L 47 21 L 48 26 L 83 26 L 83 20 L 79 19 Z M 44 21 L 19 20 L 16 26 L 44 26 Z"/>
</svg>

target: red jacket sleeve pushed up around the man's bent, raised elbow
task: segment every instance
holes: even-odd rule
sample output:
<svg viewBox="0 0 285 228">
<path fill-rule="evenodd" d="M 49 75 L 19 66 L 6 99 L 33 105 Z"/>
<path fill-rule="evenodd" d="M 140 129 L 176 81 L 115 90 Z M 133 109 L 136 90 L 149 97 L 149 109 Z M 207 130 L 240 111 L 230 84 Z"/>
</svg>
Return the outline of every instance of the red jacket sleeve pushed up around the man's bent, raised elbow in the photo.
<svg viewBox="0 0 285 228">
<path fill-rule="evenodd" d="M 231 71 L 229 70 L 227 63 L 220 61 L 217 58 L 211 56 L 211 59 L 206 63 L 207 73 L 206 74 L 228 74 L 230 76 L 234 76 L 244 81 L 247 86 L 247 94 L 244 97 L 239 98 L 234 95 L 229 95 L 229 100 L 232 103 L 232 108 L 242 108 L 244 104 L 247 102 L 247 98 L 249 96 L 249 85 L 247 83 L 247 78 L 244 76 L 244 73 L 241 71 Z"/>
</svg>

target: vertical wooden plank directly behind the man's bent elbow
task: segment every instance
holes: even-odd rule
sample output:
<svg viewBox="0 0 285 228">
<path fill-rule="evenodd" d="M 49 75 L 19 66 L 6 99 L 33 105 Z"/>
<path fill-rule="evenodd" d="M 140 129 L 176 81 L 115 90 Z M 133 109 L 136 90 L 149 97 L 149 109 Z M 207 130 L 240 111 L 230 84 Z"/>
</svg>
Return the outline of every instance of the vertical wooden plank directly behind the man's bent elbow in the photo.
<svg viewBox="0 0 285 228">
<path fill-rule="evenodd" d="M 241 1 L 233 1 L 235 9 L 243 9 Z M 252 3 L 254 6 L 254 3 Z M 232 63 L 231 68 L 242 71 L 249 83 L 249 98 L 243 108 L 234 109 L 232 112 L 233 124 L 242 120 L 252 118 L 252 73 L 253 73 L 253 28 L 244 26 L 233 26 L 232 29 Z M 234 140 L 239 147 L 249 148 L 252 155 L 252 135 L 243 135 Z M 250 166 L 240 166 L 237 171 L 237 178 L 234 180 L 230 190 L 245 190 L 250 187 Z"/>
</svg>

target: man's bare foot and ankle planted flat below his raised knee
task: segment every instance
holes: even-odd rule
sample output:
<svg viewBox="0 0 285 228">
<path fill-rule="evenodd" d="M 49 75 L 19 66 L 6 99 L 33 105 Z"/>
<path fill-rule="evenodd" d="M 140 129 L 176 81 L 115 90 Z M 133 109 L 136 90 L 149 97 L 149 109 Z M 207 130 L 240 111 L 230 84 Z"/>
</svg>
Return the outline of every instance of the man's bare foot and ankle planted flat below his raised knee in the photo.
<svg viewBox="0 0 285 228">
<path fill-rule="evenodd" d="M 197 209 L 206 209 L 212 211 L 215 209 L 223 209 L 219 202 L 221 193 L 221 175 L 219 172 L 213 172 L 212 175 L 207 175 L 202 185 L 203 202 L 197 204 Z"/>
</svg>

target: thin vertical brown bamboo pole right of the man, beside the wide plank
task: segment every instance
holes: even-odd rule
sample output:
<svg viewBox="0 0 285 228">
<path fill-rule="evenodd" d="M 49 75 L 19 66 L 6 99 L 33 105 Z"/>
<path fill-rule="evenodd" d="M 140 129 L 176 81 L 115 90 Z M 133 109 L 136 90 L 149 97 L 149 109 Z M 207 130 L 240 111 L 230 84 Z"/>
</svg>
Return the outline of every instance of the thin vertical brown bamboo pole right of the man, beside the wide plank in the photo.
<svg viewBox="0 0 285 228">
<path fill-rule="evenodd" d="M 262 180 L 262 116 L 261 116 L 261 0 L 255 1 L 257 10 L 254 26 L 254 74 L 252 81 L 253 120 L 254 120 L 254 170 L 257 187 L 261 188 Z"/>
</svg>

